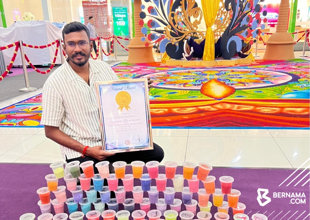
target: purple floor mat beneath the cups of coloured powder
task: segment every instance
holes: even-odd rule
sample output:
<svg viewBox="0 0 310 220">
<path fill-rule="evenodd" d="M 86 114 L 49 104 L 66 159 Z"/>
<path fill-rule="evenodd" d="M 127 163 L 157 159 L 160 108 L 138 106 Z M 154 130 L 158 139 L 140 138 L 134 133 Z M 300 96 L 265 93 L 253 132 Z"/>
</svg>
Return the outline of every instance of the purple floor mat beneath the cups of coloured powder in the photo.
<svg viewBox="0 0 310 220">
<path fill-rule="evenodd" d="M 40 187 L 47 186 L 45 175 L 52 173 L 48 164 L 0 164 L 0 219 L 6 220 L 18 220 L 23 213 L 35 213 L 38 217 L 41 212 L 37 204 L 39 196 L 36 193 Z M 195 170 L 195 174 L 197 174 Z M 265 214 L 269 216 L 269 220 L 298 220 L 309 219 L 309 182 L 302 186 L 309 179 L 309 174 L 301 181 L 309 171 L 305 170 L 299 177 L 297 177 L 292 183 L 290 183 L 303 169 L 298 170 L 290 178 L 288 178 L 281 186 L 279 186 L 287 177 L 289 177 L 294 169 L 250 169 L 250 168 L 213 168 L 210 175 L 216 177 L 215 187 L 220 188 L 218 181 L 220 176 L 229 175 L 234 177 L 235 181 L 232 184 L 233 189 L 241 191 L 239 202 L 246 204 L 245 214 L 249 213 L 249 217 L 255 213 Z M 126 173 L 131 173 L 131 167 L 126 168 Z M 144 173 L 147 173 L 147 169 L 144 167 Z M 159 173 L 165 173 L 165 168 L 160 167 Z M 177 168 L 177 174 L 182 174 L 182 167 Z M 297 186 L 294 186 L 297 182 Z M 290 184 L 289 184 L 290 183 Z M 135 179 L 135 186 L 140 185 L 140 181 Z M 286 186 L 289 184 L 289 186 Z M 64 179 L 59 180 L 58 185 L 65 185 Z M 119 181 L 119 185 L 122 185 L 122 181 Z M 155 180 L 152 180 L 152 186 L 155 185 Z M 173 186 L 171 180 L 167 181 L 167 186 Z M 188 186 L 185 180 L 184 186 Z M 202 182 L 200 187 L 203 188 Z M 267 197 L 271 198 L 271 202 L 265 206 L 260 206 L 257 200 L 258 189 L 268 189 Z M 297 196 L 304 196 L 301 198 L 274 198 L 274 193 L 280 193 L 280 195 L 288 196 L 288 193 Z M 286 194 L 287 193 L 287 194 Z M 303 195 L 304 194 L 304 195 Z M 261 192 L 263 195 L 263 192 Z M 72 195 L 67 191 L 67 198 L 71 198 Z M 84 197 L 86 197 L 84 192 Z M 148 197 L 148 193 L 144 192 L 144 197 Z M 160 198 L 163 198 L 163 193 L 160 192 Z M 51 193 L 51 199 L 55 196 Z M 128 192 L 126 198 L 132 198 L 132 193 Z M 182 199 L 181 193 L 175 193 L 175 198 Z M 198 200 L 197 193 L 194 193 L 193 199 Z M 294 199 L 294 200 L 292 200 Z M 224 200 L 227 201 L 227 195 Z M 305 201 L 305 204 L 292 204 L 298 203 L 300 200 Z M 212 196 L 210 196 L 212 202 Z M 262 199 L 262 203 L 266 200 Z M 93 208 L 93 207 L 92 207 Z M 79 206 L 80 209 L 80 206 Z M 123 209 L 120 204 L 119 209 Z M 136 204 L 135 209 L 139 209 L 139 205 Z M 151 205 L 151 209 L 156 209 L 154 204 Z M 169 206 L 168 206 L 168 209 Z M 182 204 L 182 210 L 185 210 L 184 204 Z M 197 206 L 197 212 L 199 207 Z M 65 205 L 65 212 L 68 213 L 68 209 Z M 217 207 L 212 206 L 211 213 L 214 215 L 217 212 Z M 52 208 L 52 214 L 54 210 Z M 232 218 L 232 209 L 229 209 L 230 219 Z M 163 217 L 162 217 L 163 218 Z M 195 216 L 195 218 L 197 218 Z M 84 219 L 86 219 L 84 217 Z M 100 219 L 102 219 L 100 217 Z M 130 217 L 130 219 L 132 219 Z M 179 219 L 179 217 L 178 217 Z M 212 220 L 214 218 L 212 217 Z"/>
</svg>

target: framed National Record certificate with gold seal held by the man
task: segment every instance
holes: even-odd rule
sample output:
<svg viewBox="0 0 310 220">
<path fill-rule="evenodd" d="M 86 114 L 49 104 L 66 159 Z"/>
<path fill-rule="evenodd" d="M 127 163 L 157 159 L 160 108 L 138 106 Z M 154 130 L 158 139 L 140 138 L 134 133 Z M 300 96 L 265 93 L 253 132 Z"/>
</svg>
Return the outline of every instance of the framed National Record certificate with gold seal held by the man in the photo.
<svg viewBox="0 0 310 220">
<path fill-rule="evenodd" d="M 125 152 L 153 149 L 148 80 L 95 82 L 102 150 Z"/>
</svg>

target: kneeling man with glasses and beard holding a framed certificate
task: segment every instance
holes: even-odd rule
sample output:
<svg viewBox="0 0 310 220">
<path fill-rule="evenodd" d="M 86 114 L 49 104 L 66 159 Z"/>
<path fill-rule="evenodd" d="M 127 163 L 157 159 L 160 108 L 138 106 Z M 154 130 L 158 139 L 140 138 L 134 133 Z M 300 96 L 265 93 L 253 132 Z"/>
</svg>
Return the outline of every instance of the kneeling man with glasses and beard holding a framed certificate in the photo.
<svg viewBox="0 0 310 220">
<path fill-rule="evenodd" d="M 43 87 L 41 124 L 46 137 L 60 144 L 61 154 L 68 163 L 74 160 L 81 163 L 93 160 L 94 164 L 102 160 L 127 164 L 135 160 L 162 161 L 164 152 L 157 144 L 153 150 L 117 154 L 102 150 L 94 82 L 117 80 L 117 75 L 107 63 L 89 59 L 93 43 L 85 25 L 69 23 L 62 34 L 68 59 Z M 149 84 L 152 82 L 148 79 Z M 85 157 L 81 156 L 83 151 Z"/>
</svg>

